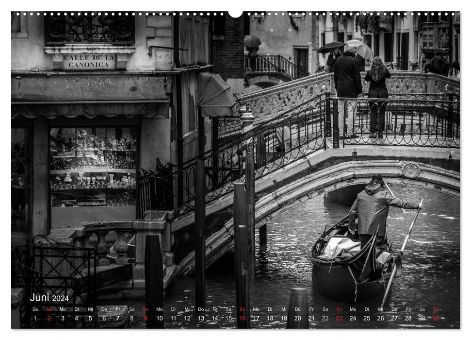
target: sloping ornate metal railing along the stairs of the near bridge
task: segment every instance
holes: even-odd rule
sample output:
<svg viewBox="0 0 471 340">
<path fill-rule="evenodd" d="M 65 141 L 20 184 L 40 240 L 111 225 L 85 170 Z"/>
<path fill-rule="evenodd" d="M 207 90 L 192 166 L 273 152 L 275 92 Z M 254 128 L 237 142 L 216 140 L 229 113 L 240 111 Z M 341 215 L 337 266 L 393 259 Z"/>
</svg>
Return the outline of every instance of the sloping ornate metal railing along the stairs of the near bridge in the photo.
<svg viewBox="0 0 471 340">
<path fill-rule="evenodd" d="M 198 160 L 205 163 L 207 203 L 231 192 L 235 181 L 244 181 L 245 145 L 249 141 L 254 144 L 256 179 L 324 148 L 324 105 L 324 97 L 316 96 L 265 121 L 222 147 L 185 162 L 181 173 L 175 171 L 157 179 L 162 184 L 160 189 L 166 191 L 159 197 L 172 195 L 173 203 L 167 208 L 176 207 L 180 214 L 192 211 L 195 199 L 194 173 Z M 183 178 L 180 184 L 179 175 Z M 180 195 L 178 185 L 181 186 Z M 170 191 L 169 187 L 173 189 Z"/>
</svg>

